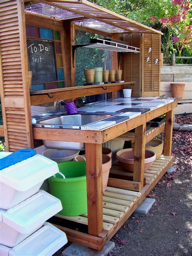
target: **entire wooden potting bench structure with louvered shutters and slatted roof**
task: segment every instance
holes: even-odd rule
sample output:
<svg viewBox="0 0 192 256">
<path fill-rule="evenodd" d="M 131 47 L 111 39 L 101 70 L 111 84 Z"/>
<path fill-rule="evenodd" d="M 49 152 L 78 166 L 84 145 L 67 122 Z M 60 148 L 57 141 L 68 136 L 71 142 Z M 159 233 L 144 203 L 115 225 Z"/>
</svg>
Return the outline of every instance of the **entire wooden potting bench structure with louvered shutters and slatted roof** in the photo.
<svg viewBox="0 0 192 256">
<path fill-rule="evenodd" d="M 28 29 L 33 28 L 32 31 L 36 31 L 36 34 L 28 33 L 26 36 L 26 26 Z M 54 39 L 41 37 L 41 28 L 51 30 Z M 100 34 L 112 39 L 118 39 L 119 34 L 122 34 L 123 41 L 141 49 L 137 54 L 124 53 L 120 61 L 118 61 L 117 49 L 116 52 L 112 52 L 112 69 L 118 69 L 120 65 L 125 83 L 75 87 L 72 49 L 75 45 L 75 30 Z M 117 96 L 117 91 L 126 86 L 130 88 L 133 83 L 132 96 L 159 96 L 161 35 L 160 31 L 86 0 L 0 1 L 0 94 L 3 116 L 0 135 L 5 137 L 6 150 L 34 148 L 34 139 L 85 143 L 88 213 L 84 216 L 71 217 L 70 220 L 87 224 L 88 234 L 59 226 L 66 232 L 70 241 L 101 250 L 171 166 L 173 109 L 177 106 L 177 102 L 171 102 L 99 131 L 32 128 L 30 106 L 104 92 L 112 92 L 113 96 Z M 51 41 L 53 45 L 56 43 L 61 45 L 61 52 L 58 54 L 55 51 L 54 55 L 60 62 L 56 68 L 63 69 L 67 88 L 44 90 L 30 95 L 27 39 L 37 38 Z M 57 85 L 60 83 L 58 77 L 56 81 L 50 80 L 47 83 L 51 82 Z M 146 122 L 164 113 L 166 113 L 165 126 L 145 134 Z M 133 181 L 110 178 L 109 186 L 102 195 L 102 143 L 122 136 L 133 128 L 135 128 Z M 165 130 L 164 156 L 156 160 L 144 173 L 145 142 L 162 130 Z M 118 165 L 112 167 L 113 172 L 119 169 Z M 122 172 L 121 169 L 120 171 Z M 143 177 L 146 177 L 144 187 Z"/>
</svg>

